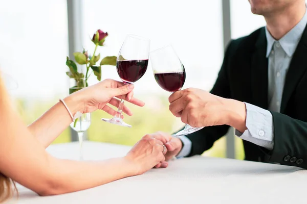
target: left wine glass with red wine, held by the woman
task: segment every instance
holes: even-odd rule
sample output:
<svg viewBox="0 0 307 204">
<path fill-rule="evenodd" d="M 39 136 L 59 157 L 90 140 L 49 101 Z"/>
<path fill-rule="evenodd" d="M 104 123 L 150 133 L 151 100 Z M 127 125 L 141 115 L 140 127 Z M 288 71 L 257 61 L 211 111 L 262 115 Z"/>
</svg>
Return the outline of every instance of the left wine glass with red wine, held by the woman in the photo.
<svg viewBox="0 0 307 204">
<path fill-rule="evenodd" d="M 116 70 L 124 84 L 133 84 L 143 75 L 147 70 L 149 57 L 150 40 L 136 36 L 127 35 L 122 47 L 119 51 Z M 122 110 L 125 101 L 125 96 L 122 96 L 117 113 L 112 119 L 102 118 L 101 120 L 113 124 L 118 124 L 126 127 L 131 125 L 125 123 L 122 118 Z"/>
</svg>

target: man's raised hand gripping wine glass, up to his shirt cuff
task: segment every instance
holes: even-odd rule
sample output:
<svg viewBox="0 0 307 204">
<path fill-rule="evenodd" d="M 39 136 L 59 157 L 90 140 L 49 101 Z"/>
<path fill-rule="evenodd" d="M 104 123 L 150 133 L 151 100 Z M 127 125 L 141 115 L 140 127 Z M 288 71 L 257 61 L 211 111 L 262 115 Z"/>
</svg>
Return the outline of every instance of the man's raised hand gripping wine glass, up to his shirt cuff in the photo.
<svg viewBox="0 0 307 204">
<path fill-rule="evenodd" d="M 227 124 L 242 132 L 246 130 L 246 107 L 240 101 L 188 88 L 170 95 L 169 103 L 171 113 L 193 127 Z"/>
</svg>

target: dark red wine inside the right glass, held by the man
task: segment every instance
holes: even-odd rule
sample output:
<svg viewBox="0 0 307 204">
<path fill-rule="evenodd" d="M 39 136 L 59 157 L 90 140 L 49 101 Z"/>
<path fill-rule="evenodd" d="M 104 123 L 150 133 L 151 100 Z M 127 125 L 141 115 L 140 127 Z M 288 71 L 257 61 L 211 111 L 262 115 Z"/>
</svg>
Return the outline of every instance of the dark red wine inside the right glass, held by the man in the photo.
<svg viewBox="0 0 307 204">
<path fill-rule="evenodd" d="M 185 81 L 185 71 L 155 73 L 155 79 L 162 89 L 169 92 L 179 91 Z"/>
</svg>

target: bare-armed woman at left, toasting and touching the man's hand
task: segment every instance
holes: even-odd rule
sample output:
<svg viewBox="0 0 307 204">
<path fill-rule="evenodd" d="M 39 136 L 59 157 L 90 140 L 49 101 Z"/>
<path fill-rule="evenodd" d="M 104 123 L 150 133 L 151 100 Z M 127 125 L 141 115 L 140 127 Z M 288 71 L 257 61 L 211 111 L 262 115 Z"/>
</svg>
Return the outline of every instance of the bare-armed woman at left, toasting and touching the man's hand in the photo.
<svg viewBox="0 0 307 204">
<path fill-rule="evenodd" d="M 115 96 L 144 106 L 133 97 L 133 85 L 124 86 L 104 80 L 64 98 L 72 115 L 97 109 L 115 115 L 106 104 L 118 106 Z M 131 115 L 124 107 L 123 111 Z M 72 122 L 68 110 L 59 101 L 28 127 L 14 111 L 0 77 L 0 202 L 14 192 L 17 182 L 39 195 L 55 195 L 92 188 L 123 177 L 139 175 L 152 167 L 166 167 L 163 143 L 146 135 L 125 157 L 104 161 L 57 159 L 45 150 Z M 163 152 L 164 151 L 164 152 Z M 80 179 L 80 175 L 82 176 Z"/>
</svg>

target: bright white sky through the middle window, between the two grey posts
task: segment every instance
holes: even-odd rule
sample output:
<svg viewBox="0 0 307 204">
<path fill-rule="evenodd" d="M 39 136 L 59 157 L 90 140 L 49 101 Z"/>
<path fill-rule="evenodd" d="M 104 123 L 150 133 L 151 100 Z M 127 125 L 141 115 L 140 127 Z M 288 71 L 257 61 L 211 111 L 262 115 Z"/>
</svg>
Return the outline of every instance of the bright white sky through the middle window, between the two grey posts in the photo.
<svg viewBox="0 0 307 204">
<path fill-rule="evenodd" d="M 184 88 L 209 89 L 223 59 L 221 8 L 221 1 L 84 1 L 84 44 L 91 47 L 97 29 L 109 34 L 102 55 L 117 56 L 126 34 L 149 38 L 151 50 L 172 44 L 186 68 Z M 119 80 L 115 67 L 103 68 L 103 78 Z M 135 86 L 136 93 L 169 94 L 154 80 L 150 62 Z"/>
</svg>

